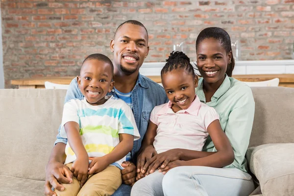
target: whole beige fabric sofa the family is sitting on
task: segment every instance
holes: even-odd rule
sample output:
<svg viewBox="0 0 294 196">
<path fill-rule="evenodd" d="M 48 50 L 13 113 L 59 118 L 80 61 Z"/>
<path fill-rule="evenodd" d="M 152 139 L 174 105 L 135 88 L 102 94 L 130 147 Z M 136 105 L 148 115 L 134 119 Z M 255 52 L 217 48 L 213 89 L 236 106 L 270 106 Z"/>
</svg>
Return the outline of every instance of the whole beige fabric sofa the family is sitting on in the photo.
<svg viewBox="0 0 294 196">
<path fill-rule="evenodd" d="M 256 110 L 246 156 L 260 187 L 251 195 L 261 191 L 263 196 L 294 196 L 294 88 L 252 91 Z M 65 94 L 65 90 L 0 90 L 1 196 L 43 195 L 45 165 Z"/>
</svg>

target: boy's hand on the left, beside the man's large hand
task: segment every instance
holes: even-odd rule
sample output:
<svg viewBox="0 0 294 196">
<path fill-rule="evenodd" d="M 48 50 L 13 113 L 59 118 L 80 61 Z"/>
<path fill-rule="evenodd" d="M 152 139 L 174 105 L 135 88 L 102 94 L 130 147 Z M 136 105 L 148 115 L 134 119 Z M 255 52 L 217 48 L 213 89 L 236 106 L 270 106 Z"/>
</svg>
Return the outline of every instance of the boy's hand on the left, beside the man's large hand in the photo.
<svg viewBox="0 0 294 196">
<path fill-rule="evenodd" d="M 78 181 L 80 181 L 80 185 L 83 186 L 88 178 L 88 168 L 89 168 L 89 157 L 79 156 L 73 162 L 71 171 L 73 175 L 76 177 Z"/>
</svg>

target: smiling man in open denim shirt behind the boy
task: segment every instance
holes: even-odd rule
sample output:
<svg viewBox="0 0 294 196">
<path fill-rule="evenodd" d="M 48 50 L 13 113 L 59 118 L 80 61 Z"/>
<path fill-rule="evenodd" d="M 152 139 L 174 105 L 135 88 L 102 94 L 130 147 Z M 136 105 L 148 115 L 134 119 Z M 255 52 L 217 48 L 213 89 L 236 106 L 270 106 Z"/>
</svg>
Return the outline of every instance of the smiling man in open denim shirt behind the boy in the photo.
<svg viewBox="0 0 294 196">
<path fill-rule="evenodd" d="M 130 161 L 123 163 L 123 184 L 113 196 L 130 195 L 131 187 L 135 183 L 137 152 L 147 130 L 150 112 L 154 106 L 166 103 L 164 89 L 149 78 L 140 75 L 139 69 L 148 55 L 148 33 L 145 26 L 138 21 L 126 21 L 121 24 L 110 42 L 110 49 L 114 53 L 114 81 L 115 87 L 110 93 L 122 98 L 133 110 L 135 121 L 141 139 L 134 142 L 133 149 L 127 156 Z M 70 84 L 65 102 L 72 98 L 81 98 L 76 79 Z M 65 161 L 65 147 L 67 139 L 57 135 L 52 149 L 49 163 L 46 166 L 45 195 L 54 196 L 51 187 L 64 190 L 61 183 L 71 183 L 73 173 L 63 163 Z M 59 183 L 61 182 L 61 183 Z M 82 184 L 84 182 L 81 182 Z"/>
</svg>

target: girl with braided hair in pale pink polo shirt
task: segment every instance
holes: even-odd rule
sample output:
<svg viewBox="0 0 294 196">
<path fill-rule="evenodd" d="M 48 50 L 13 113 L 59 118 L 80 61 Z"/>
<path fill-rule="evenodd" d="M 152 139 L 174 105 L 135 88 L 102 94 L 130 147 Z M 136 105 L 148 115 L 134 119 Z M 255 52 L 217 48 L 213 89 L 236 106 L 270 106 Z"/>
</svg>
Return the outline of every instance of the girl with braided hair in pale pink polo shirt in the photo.
<svg viewBox="0 0 294 196">
<path fill-rule="evenodd" d="M 159 155 L 174 148 L 200 151 L 209 134 L 218 149 L 211 155 L 214 160 L 211 166 L 231 164 L 234 160 L 233 149 L 221 129 L 218 113 L 201 103 L 195 95 L 198 79 L 190 59 L 183 52 L 172 52 L 161 77 L 170 101 L 152 110 L 142 145 L 154 147 Z M 131 196 L 163 195 L 162 179 L 166 171 L 161 172 L 169 165 L 169 159 L 160 161 L 159 156 L 154 157 L 146 163 L 144 157 L 138 157 L 138 178 L 143 177 L 142 173 L 147 175 L 134 184 Z M 187 156 L 182 156 L 176 164 L 186 165 L 184 160 L 187 159 Z M 162 164 L 159 170 L 158 164 Z"/>
</svg>

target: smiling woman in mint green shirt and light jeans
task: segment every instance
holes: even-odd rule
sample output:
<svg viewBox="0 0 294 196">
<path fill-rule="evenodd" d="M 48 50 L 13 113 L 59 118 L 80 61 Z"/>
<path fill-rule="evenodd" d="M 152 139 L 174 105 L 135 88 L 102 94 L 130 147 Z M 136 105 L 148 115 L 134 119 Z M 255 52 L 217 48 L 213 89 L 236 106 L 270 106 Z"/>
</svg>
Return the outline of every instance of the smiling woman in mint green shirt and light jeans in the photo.
<svg viewBox="0 0 294 196">
<path fill-rule="evenodd" d="M 254 190 L 245 159 L 254 118 L 251 89 L 231 77 L 235 65 L 231 40 L 222 28 L 203 29 L 196 40 L 196 54 L 197 68 L 202 76 L 196 94 L 201 102 L 215 108 L 220 115 L 221 127 L 233 147 L 235 160 L 232 164 L 222 165 L 217 164 L 220 159 L 212 159 L 219 150 L 212 135 L 202 151 L 189 154 L 182 149 L 176 150 L 174 153 L 181 157 L 190 155 L 186 165 L 193 167 L 176 167 L 173 162 L 165 167 L 167 170 L 176 168 L 164 176 L 164 195 L 248 196 Z M 171 157 L 166 156 L 167 159 Z"/>
</svg>

